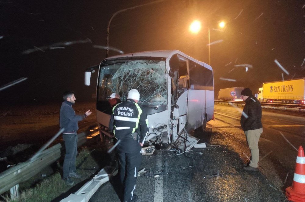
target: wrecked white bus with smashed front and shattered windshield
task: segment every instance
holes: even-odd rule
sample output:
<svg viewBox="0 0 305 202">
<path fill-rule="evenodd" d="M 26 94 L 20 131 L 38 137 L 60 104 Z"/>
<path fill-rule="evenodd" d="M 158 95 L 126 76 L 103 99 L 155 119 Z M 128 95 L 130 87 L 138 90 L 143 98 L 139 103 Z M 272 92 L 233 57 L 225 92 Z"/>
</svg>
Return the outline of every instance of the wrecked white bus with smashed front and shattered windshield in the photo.
<svg viewBox="0 0 305 202">
<path fill-rule="evenodd" d="M 213 117 L 214 82 L 210 65 L 178 50 L 138 52 L 112 56 L 85 72 L 90 85 L 91 72 L 99 69 L 96 117 L 100 132 L 108 135 L 111 106 L 106 99 L 113 92 L 122 101 L 127 92 L 140 92 L 139 105 L 146 109 L 149 133 L 146 141 L 159 149 L 183 153 L 199 139 L 194 129 L 206 128 Z"/>
</svg>

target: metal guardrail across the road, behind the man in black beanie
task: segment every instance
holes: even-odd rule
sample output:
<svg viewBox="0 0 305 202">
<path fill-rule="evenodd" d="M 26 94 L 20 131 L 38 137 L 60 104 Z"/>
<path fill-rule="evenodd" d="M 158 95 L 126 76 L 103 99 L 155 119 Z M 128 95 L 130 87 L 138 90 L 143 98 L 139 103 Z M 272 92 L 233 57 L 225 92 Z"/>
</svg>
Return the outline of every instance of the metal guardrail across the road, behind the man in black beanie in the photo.
<svg viewBox="0 0 305 202">
<path fill-rule="evenodd" d="M 244 102 L 238 101 L 224 101 L 224 100 L 214 100 L 215 103 L 223 103 L 223 104 L 234 104 L 236 106 L 244 106 Z M 264 109 L 279 109 L 279 110 L 291 110 L 291 111 L 300 111 L 305 112 L 305 105 L 298 104 L 282 104 L 282 103 L 260 103 L 262 108 Z"/>
</svg>

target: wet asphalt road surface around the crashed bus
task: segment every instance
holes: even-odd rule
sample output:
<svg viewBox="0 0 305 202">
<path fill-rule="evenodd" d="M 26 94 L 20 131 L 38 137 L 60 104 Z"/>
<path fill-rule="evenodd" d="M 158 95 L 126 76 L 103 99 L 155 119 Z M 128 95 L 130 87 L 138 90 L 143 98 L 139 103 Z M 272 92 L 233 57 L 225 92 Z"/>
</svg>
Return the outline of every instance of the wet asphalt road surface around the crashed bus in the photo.
<svg viewBox="0 0 305 202">
<path fill-rule="evenodd" d="M 138 201 L 288 201 L 284 190 L 292 185 L 297 155 L 293 146 L 305 146 L 305 118 L 264 111 L 260 172 L 247 172 L 242 165 L 250 151 L 239 126 L 240 110 L 215 105 L 216 119 L 207 124 L 207 131 L 193 133 L 207 148 L 192 148 L 185 155 L 156 151 L 143 156 L 147 173 L 165 174 L 138 177 Z M 90 201 L 119 202 L 117 181 L 116 176 L 103 184 Z"/>
</svg>

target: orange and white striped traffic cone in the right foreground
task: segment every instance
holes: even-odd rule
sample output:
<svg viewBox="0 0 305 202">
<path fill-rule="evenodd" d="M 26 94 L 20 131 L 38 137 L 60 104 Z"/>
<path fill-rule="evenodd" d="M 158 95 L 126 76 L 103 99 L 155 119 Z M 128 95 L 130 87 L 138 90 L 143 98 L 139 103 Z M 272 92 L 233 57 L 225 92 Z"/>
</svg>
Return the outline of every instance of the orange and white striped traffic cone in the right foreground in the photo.
<svg viewBox="0 0 305 202">
<path fill-rule="evenodd" d="M 286 197 L 295 202 L 305 202 L 305 156 L 303 147 L 299 147 L 296 157 L 292 186 L 286 188 Z"/>
</svg>

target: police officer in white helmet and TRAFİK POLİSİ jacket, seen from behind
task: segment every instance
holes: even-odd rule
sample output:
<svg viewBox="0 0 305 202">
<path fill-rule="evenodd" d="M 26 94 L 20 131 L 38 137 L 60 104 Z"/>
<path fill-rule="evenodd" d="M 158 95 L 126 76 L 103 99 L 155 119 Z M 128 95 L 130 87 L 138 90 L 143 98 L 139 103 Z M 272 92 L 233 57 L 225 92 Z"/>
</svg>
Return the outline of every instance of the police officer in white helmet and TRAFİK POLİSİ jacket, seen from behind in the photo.
<svg viewBox="0 0 305 202">
<path fill-rule="evenodd" d="M 128 92 L 127 100 L 113 107 L 109 129 L 120 140 L 117 146 L 120 180 L 124 189 L 124 202 L 137 201 L 133 191 L 141 166 L 141 148 L 148 133 L 145 111 L 138 105 L 140 93 L 136 89 Z"/>
</svg>

